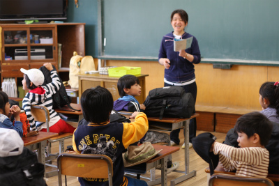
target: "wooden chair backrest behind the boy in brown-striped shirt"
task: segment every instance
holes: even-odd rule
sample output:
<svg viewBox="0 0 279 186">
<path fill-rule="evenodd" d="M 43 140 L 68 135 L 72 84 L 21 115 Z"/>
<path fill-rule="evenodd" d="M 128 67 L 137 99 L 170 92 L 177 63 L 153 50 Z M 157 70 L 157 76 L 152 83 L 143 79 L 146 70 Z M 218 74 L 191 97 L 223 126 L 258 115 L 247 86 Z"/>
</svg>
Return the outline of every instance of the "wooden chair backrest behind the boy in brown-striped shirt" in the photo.
<svg viewBox="0 0 279 186">
<path fill-rule="evenodd" d="M 225 173 L 214 173 L 209 179 L 209 186 L 274 186 L 269 178 L 255 178 L 245 176 L 235 176 Z"/>
</svg>

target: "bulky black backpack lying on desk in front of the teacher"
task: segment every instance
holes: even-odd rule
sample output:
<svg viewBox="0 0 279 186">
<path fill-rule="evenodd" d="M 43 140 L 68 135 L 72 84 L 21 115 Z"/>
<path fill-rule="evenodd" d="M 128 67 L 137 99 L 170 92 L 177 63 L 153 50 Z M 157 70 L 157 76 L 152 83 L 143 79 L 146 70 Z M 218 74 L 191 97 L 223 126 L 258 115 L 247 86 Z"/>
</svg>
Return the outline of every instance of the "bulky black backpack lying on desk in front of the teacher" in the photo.
<svg viewBox="0 0 279 186">
<path fill-rule="evenodd" d="M 190 118 L 195 109 L 191 93 L 185 93 L 181 86 L 165 86 L 149 91 L 144 101 L 144 113 L 150 117 Z"/>
</svg>

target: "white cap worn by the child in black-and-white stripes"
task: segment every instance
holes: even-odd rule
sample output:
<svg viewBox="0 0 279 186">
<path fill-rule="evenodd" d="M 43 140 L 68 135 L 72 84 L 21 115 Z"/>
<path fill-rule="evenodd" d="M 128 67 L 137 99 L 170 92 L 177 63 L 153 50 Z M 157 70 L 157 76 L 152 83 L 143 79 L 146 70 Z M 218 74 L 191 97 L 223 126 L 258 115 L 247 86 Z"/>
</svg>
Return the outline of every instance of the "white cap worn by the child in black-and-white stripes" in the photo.
<svg viewBox="0 0 279 186">
<path fill-rule="evenodd" d="M 35 86 L 41 86 L 43 82 L 45 82 L 45 76 L 43 75 L 43 72 L 36 69 L 32 68 L 29 70 L 25 70 L 24 68 L 20 68 L 20 71 L 24 73 L 25 75 L 28 76 L 30 81 L 35 85 Z"/>
</svg>

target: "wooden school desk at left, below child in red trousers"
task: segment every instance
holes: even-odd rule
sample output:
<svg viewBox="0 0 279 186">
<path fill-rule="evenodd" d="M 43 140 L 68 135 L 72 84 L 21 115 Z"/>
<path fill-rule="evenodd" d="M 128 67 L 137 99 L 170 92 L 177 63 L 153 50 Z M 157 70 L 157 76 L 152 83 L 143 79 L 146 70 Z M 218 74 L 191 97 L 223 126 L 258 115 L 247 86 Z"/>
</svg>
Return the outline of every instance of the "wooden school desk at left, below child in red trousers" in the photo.
<svg viewBox="0 0 279 186">
<path fill-rule="evenodd" d="M 38 162 L 45 166 L 45 146 L 47 145 L 47 139 L 57 136 L 58 133 L 54 132 L 39 132 L 36 136 L 22 137 L 22 140 L 26 148 L 30 150 L 38 149 Z"/>
</svg>

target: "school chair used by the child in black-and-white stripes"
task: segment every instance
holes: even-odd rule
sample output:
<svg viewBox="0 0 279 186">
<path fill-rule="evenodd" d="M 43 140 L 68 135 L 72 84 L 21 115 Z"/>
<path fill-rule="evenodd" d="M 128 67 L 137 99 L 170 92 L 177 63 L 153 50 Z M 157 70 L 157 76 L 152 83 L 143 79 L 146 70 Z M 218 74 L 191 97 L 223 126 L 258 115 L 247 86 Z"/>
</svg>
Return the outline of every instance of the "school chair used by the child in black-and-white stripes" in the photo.
<svg viewBox="0 0 279 186">
<path fill-rule="evenodd" d="M 39 121 L 39 122 L 45 122 L 47 124 L 47 132 L 50 132 L 50 127 L 49 127 L 49 122 L 50 122 L 50 111 L 48 111 L 48 109 L 44 106 L 39 106 L 39 105 L 31 105 L 31 114 L 32 116 L 35 118 L 35 121 Z M 49 148 L 48 148 L 48 157 L 46 157 L 46 162 L 50 162 L 50 163 L 46 163 L 46 166 L 52 166 L 54 168 L 57 168 L 56 165 L 51 164 L 51 161 L 56 159 L 56 157 L 58 157 L 59 154 L 64 152 L 64 140 L 68 139 L 68 138 L 72 138 L 73 134 L 72 133 L 63 133 L 63 134 L 59 134 L 58 137 L 53 137 L 51 139 L 49 139 L 48 141 L 49 143 Z M 59 141 L 59 153 L 56 154 L 52 154 L 51 153 L 51 144 Z M 50 178 L 52 176 L 56 176 L 57 175 L 57 171 L 49 171 L 45 173 L 47 178 Z"/>
</svg>

